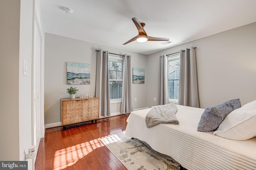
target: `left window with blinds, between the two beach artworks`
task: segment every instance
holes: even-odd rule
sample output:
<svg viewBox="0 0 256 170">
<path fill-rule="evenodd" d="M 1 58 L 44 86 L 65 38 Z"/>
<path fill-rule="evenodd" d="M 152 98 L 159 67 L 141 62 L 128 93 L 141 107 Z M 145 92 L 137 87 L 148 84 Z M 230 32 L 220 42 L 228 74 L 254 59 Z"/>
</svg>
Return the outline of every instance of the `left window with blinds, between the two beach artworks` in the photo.
<svg viewBox="0 0 256 170">
<path fill-rule="evenodd" d="M 122 100 L 122 58 L 109 56 L 110 100 Z"/>
</svg>

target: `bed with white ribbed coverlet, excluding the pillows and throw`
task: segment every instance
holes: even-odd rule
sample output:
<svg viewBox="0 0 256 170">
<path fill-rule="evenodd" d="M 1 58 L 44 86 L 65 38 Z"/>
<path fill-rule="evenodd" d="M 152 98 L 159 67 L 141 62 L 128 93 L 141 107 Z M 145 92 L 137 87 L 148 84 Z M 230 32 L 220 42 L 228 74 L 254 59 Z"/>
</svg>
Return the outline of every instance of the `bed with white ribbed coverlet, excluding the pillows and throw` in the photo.
<svg viewBox="0 0 256 170">
<path fill-rule="evenodd" d="M 148 143 L 188 170 L 256 170 L 256 137 L 234 141 L 212 135 L 213 131 L 198 132 L 204 109 L 177 107 L 179 125 L 161 123 L 147 128 L 145 116 L 150 109 L 131 112 L 125 136 Z"/>
</svg>

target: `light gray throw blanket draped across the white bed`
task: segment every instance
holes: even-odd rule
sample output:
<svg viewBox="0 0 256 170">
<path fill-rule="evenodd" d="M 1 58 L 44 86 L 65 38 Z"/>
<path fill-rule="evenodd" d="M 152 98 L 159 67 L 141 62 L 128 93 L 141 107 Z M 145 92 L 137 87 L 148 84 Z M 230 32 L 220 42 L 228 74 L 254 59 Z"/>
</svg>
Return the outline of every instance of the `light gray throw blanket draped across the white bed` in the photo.
<svg viewBox="0 0 256 170">
<path fill-rule="evenodd" d="M 145 118 L 147 127 L 152 127 L 160 123 L 179 124 L 175 115 L 177 110 L 174 103 L 152 106 Z"/>
</svg>

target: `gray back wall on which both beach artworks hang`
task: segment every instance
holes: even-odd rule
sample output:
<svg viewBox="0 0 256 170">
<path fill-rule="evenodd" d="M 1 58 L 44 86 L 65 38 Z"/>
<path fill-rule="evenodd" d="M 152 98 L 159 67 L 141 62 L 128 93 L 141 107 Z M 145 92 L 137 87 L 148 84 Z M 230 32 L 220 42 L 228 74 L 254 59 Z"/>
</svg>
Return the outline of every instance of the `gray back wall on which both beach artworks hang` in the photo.
<svg viewBox="0 0 256 170">
<path fill-rule="evenodd" d="M 66 83 L 66 62 L 90 64 L 90 84 L 72 85 L 77 87 L 77 97 L 82 93 L 93 93 L 95 95 L 96 83 L 96 49 L 108 50 L 110 53 L 127 54 L 132 56 L 132 68 L 145 68 L 146 55 L 124 51 L 103 45 L 62 37 L 58 35 L 45 34 L 45 103 L 44 121 L 45 124 L 60 122 L 60 98 L 69 98 L 66 89 L 70 87 Z M 134 109 L 146 107 L 146 86 L 145 84 L 132 84 L 132 101 Z M 134 98 L 137 101 L 134 101 Z M 119 114 L 120 103 L 111 104 L 112 115 Z"/>
</svg>

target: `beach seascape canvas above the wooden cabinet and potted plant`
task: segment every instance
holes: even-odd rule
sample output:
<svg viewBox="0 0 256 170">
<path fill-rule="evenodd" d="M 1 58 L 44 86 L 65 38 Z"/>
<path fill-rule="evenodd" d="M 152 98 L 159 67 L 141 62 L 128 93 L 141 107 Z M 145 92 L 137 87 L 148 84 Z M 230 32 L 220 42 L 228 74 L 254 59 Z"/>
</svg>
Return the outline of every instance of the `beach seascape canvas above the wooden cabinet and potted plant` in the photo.
<svg viewBox="0 0 256 170">
<path fill-rule="evenodd" d="M 90 84 L 90 64 L 67 62 L 68 84 Z"/>
</svg>

